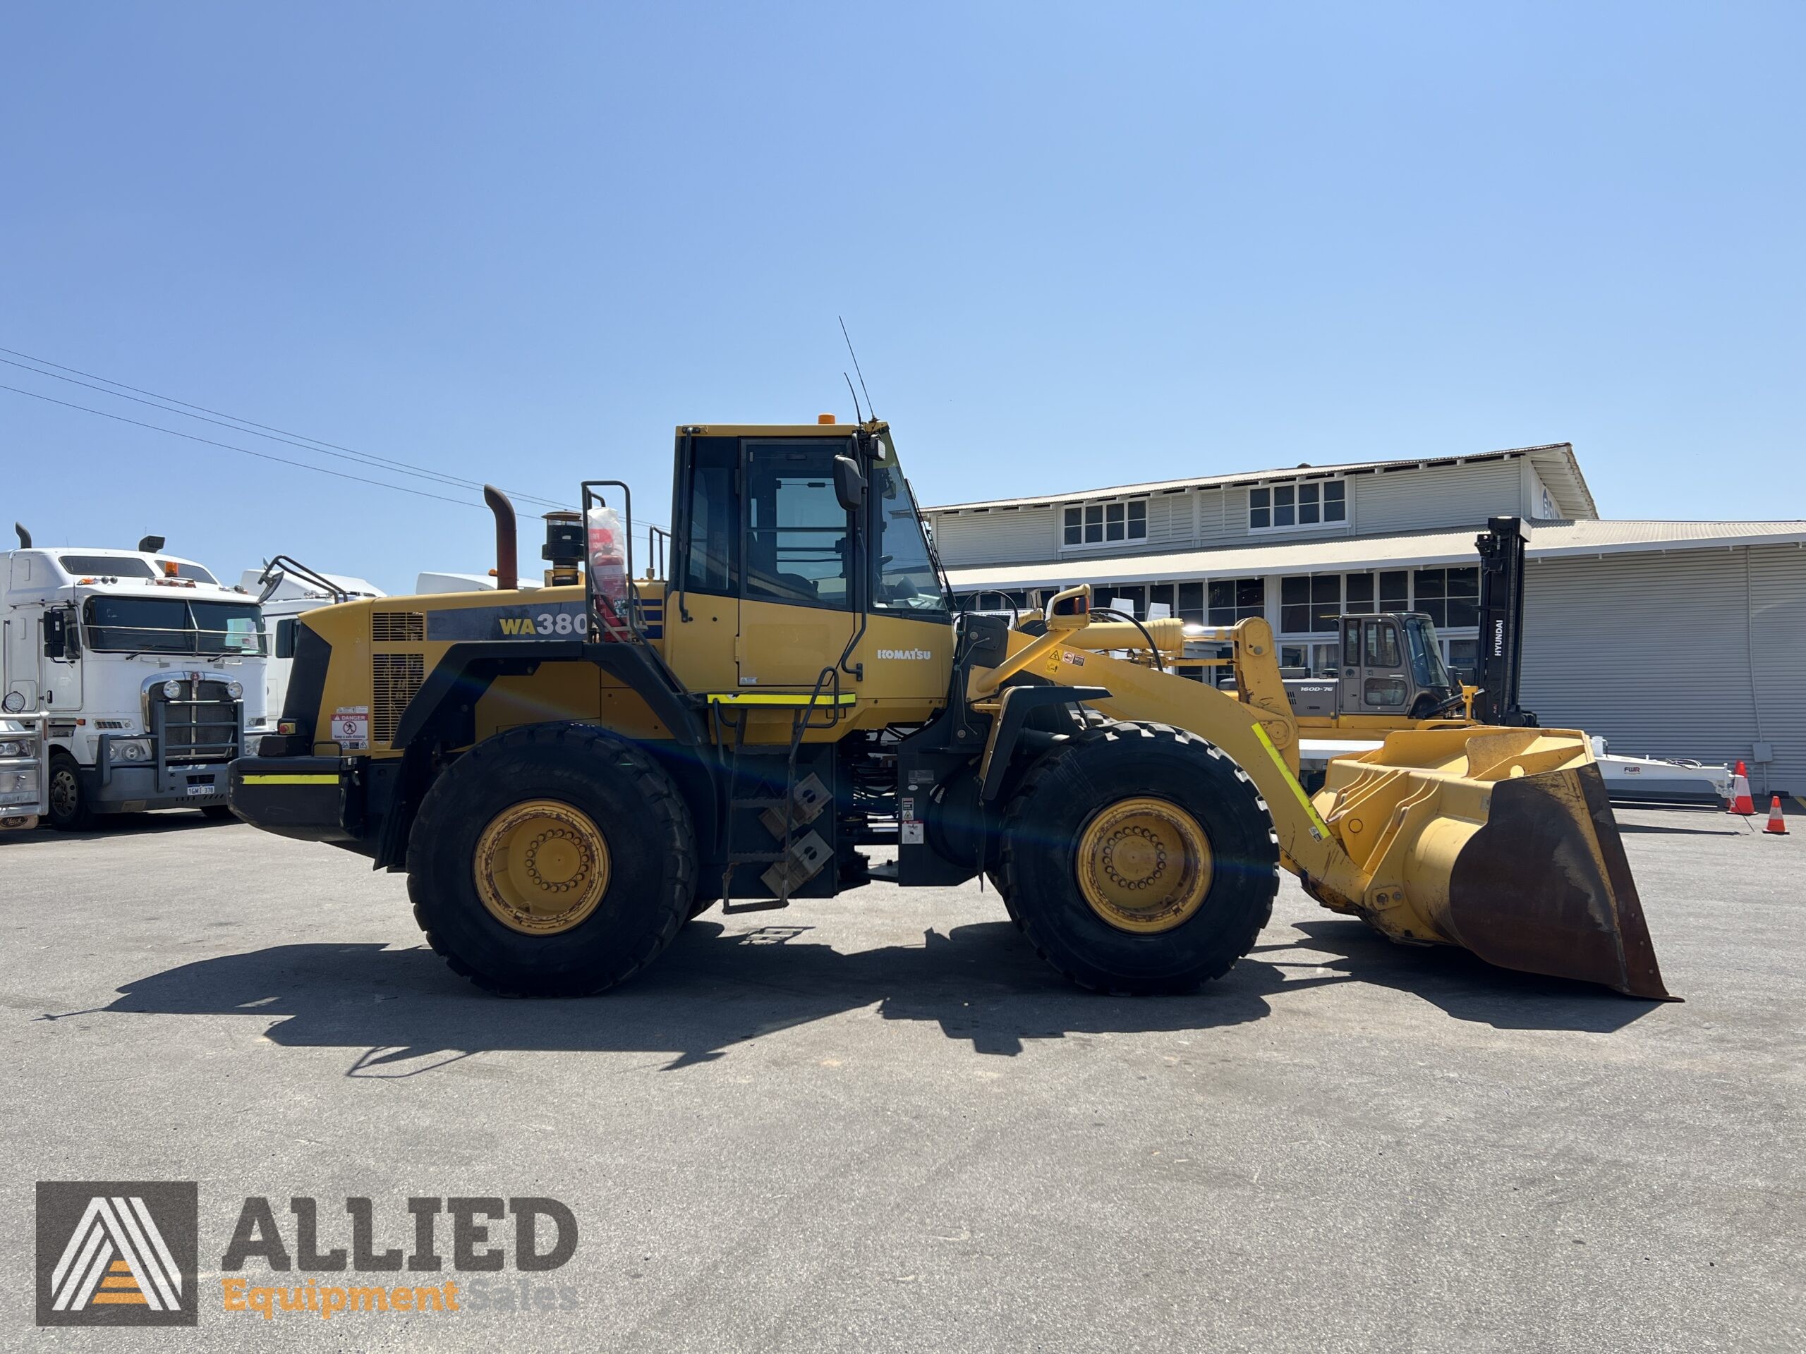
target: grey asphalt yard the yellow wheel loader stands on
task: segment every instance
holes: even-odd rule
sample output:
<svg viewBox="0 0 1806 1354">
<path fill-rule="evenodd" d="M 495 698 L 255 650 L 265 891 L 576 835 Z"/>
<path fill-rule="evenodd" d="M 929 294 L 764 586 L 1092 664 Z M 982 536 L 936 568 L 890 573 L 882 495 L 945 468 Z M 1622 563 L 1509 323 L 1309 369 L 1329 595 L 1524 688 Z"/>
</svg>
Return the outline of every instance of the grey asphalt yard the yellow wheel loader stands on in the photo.
<svg viewBox="0 0 1806 1354">
<path fill-rule="evenodd" d="M 1685 1004 L 1396 948 L 1289 879 L 1190 998 L 1069 989 L 995 894 L 881 885 L 704 915 L 601 998 L 497 1000 L 329 847 L 9 834 L 0 1347 L 1801 1349 L 1806 821 L 1620 821 Z M 199 1327 L 36 1331 L 34 1182 L 164 1179 L 199 1181 Z M 224 1311 L 247 1195 L 291 1247 L 293 1197 L 321 1247 L 370 1197 L 381 1247 L 412 1195 L 549 1195 L 578 1247 L 253 1260 L 464 1293 L 265 1320 Z"/>
</svg>

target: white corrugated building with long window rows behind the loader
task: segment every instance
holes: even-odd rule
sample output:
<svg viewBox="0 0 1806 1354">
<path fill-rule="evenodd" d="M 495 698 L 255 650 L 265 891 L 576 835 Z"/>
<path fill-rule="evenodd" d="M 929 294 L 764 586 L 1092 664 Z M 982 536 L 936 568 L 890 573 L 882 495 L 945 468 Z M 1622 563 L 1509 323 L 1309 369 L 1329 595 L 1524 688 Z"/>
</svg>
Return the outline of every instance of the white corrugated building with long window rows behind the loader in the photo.
<svg viewBox="0 0 1806 1354">
<path fill-rule="evenodd" d="M 1573 448 L 1208 475 L 925 509 L 963 598 L 1089 581 L 1118 608 L 1264 616 L 1284 666 L 1335 664 L 1335 616 L 1429 612 L 1472 672 L 1488 516 L 1524 518 L 1522 702 L 1613 751 L 1743 758 L 1806 793 L 1806 522 L 1602 520 Z M 1100 601 L 1100 605 L 1103 605 Z"/>
</svg>

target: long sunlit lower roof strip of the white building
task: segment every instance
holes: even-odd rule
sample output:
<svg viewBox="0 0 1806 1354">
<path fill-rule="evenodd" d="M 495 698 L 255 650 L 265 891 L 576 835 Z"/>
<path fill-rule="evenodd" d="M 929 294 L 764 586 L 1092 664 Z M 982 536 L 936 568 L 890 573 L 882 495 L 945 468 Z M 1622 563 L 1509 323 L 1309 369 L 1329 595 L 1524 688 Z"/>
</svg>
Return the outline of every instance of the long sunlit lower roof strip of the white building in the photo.
<svg viewBox="0 0 1806 1354">
<path fill-rule="evenodd" d="M 1703 551 L 1739 545 L 1806 545 L 1806 522 L 1526 522 L 1531 560 L 1638 551 Z M 1122 554 L 1044 563 L 950 569 L 955 589 L 1022 589 L 1071 583 L 1185 581 L 1309 574 L 1347 569 L 1421 569 L 1472 563 L 1474 538 L 1485 524 L 1457 531 L 1410 531 L 1396 536 L 1336 536 L 1289 543 Z"/>
</svg>

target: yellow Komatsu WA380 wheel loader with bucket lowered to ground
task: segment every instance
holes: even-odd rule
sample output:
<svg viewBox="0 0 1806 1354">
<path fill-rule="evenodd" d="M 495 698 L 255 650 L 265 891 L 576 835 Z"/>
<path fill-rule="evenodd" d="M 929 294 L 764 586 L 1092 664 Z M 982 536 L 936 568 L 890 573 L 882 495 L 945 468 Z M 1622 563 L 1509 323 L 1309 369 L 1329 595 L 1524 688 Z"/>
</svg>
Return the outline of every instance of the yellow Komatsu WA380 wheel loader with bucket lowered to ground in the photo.
<svg viewBox="0 0 1806 1354">
<path fill-rule="evenodd" d="M 280 731 L 231 769 L 247 821 L 406 872 L 488 989 L 601 991 L 717 903 L 986 874 L 1075 982 L 1188 991 L 1284 867 L 1396 941 L 1667 997 L 1584 735 L 1396 733 L 1313 800 L 1262 621 L 1230 695 L 1167 670 L 1183 623 L 1087 587 L 955 616 L 883 422 L 679 428 L 666 578 L 618 482 L 547 518 L 531 592 L 491 505 L 498 590 L 302 616 Z"/>
</svg>

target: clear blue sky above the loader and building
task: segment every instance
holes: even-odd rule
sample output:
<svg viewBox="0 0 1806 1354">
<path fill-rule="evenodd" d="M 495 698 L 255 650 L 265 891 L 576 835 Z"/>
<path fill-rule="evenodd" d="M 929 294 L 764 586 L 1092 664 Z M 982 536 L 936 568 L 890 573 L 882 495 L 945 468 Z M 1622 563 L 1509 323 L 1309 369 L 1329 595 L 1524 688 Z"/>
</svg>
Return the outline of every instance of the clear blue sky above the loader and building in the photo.
<svg viewBox="0 0 1806 1354">
<path fill-rule="evenodd" d="M 9 5 L 0 347 L 665 522 L 674 424 L 851 413 L 845 314 L 930 504 L 1571 441 L 1607 516 L 1799 518 L 1802 51 L 1799 4 Z M 0 515 L 491 554 L 11 392 Z"/>
</svg>

